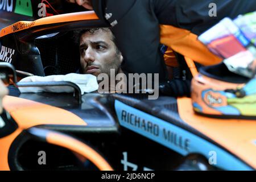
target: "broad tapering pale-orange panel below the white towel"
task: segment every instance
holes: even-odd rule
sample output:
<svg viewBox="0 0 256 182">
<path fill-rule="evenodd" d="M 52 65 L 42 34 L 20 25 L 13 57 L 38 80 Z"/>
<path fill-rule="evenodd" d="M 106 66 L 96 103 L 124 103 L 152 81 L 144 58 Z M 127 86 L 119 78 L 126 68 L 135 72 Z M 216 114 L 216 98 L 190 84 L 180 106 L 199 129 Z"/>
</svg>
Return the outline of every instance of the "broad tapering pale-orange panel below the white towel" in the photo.
<svg viewBox="0 0 256 182">
<path fill-rule="evenodd" d="M 38 125 L 87 125 L 83 119 L 70 111 L 23 98 L 5 96 L 3 106 L 21 129 Z"/>
</svg>

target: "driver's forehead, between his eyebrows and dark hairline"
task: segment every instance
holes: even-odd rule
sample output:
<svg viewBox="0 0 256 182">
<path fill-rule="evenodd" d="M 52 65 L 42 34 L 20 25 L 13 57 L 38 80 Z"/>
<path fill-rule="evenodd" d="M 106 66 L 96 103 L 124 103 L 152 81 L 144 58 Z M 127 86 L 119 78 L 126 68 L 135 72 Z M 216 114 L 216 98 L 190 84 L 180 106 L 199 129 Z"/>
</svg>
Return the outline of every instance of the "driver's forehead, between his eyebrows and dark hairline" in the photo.
<svg viewBox="0 0 256 182">
<path fill-rule="evenodd" d="M 96 30 L 92 32 L 85 32 L 81 35 L 80 45 L 90 42 L 105 42 L 109 45 L 113 44 L 112 33 L 105 30 Z"/>
</svg>

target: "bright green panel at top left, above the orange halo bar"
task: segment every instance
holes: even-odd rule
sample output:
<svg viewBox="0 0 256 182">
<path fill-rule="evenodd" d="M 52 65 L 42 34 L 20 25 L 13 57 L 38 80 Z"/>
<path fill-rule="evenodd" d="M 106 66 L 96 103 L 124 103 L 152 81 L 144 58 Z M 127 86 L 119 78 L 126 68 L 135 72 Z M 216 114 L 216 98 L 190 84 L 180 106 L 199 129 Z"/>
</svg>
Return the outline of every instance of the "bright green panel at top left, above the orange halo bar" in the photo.
<svg viewBox="0 0 256 182">
<path fill-rule="evenodd" d="M 33 16 L 31 0 L 17 0 L 14 13 Z"/>
</svg>

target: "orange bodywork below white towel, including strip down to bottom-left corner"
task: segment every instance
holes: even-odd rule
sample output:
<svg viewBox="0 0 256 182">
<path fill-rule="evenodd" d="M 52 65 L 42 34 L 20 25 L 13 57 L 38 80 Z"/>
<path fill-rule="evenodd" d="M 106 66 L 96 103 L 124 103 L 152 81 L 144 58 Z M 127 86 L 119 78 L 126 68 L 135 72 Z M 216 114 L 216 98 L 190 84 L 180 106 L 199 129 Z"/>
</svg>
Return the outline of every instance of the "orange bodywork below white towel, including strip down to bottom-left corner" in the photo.
<svg viewBox="0 0 256 182">
<path fill-rule="evenodd" d="M 86 126 L 81 118 L 67 110 L 22 98 L 5 96 L 3 106 L 18 124 L 18 129 L 13 134 L 0 138 L 0 171 L 10 169 L 8 152 L 14 139 L 23 130 L 39 125 Z"/>
</svg>

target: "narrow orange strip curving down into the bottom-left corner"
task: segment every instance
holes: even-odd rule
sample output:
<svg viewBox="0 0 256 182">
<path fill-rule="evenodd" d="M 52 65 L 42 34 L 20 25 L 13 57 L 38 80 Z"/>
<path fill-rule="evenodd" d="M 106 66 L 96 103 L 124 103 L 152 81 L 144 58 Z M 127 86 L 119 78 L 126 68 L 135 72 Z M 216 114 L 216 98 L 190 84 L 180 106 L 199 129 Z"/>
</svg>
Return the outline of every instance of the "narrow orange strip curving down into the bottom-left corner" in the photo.
<svg viewBox="0 0 256 182">
<path fill-rule="evenodd" d="M 0 171 L 9 171 L 8 154 L 14 139 L 22 132 L 21 129 L 16 130 L 14 133 L 7 137 L 0 138 Z"/>
</svg>

